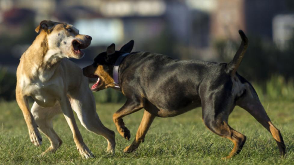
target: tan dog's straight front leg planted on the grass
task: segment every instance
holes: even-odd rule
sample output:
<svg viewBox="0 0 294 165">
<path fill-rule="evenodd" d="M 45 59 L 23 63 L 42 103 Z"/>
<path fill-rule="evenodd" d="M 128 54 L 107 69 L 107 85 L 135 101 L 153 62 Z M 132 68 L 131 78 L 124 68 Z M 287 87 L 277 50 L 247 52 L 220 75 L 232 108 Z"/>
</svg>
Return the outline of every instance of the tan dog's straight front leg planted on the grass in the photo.
<svg viewBox="0 0 294 165">
<path fill-rule="evenodd" d="M 63 112 L 63 115 L 66 119 L 66 122 L 69 125 L 69 128 L 72 131 L 72 136 L 75 141 L 75 145 L 77 146 L 78 151 L 84 158 L 93 157 L 92 152 L 88 147 L 85 145 L 83 138 L 81 136 L 80 131 L 78 130 L 77 123 L 75 122 L 75 116 L 72 112 L 72 108 L 67 97 L 64 97 L 62 101 L 60 101 L 60 107 Z"/>
</svg>

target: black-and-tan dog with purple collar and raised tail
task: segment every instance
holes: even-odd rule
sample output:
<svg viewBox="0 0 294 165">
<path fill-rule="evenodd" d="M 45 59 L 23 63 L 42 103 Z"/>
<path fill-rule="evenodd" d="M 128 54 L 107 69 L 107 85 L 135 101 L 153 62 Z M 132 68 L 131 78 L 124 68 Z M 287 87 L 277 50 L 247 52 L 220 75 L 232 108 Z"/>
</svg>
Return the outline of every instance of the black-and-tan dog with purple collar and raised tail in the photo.
<svg viewBox="0 0 294 165">
<path fill-rule="evenodd" d="M 280 155 L 285 155 L 280 131 L 271 123 L 253 86 L 236 72 L 248 44 L 243 31 L 239 33 L 242 43 L 228 64 L 179 61 L 149 52 L 130 53 L 134 44 L 130 41 L 120 51 L 115 51 L 114 44 L 110 45 L 106 52 L 94 59 L 93 64 L 83 69 L 85 76 L 98 78 L 92 86 L 93 91 L 119 85 L 126 96 L 127 102 L 113 115 L 117 130 L 124 138 L 130 139 L 130 131 L 122 117 L 145 109 L 136 138 L 124 152 L 133 152 L 138 148 L 155 116 L 177 116 L 201 106 L 207 128 L 234 143 L 231 153 L 225 157 L 231 158 L 241 151 L 246 141 L 243 134 L 228 125 L 228 116 L 238 105 L 272 134 Z"/>
</svg>

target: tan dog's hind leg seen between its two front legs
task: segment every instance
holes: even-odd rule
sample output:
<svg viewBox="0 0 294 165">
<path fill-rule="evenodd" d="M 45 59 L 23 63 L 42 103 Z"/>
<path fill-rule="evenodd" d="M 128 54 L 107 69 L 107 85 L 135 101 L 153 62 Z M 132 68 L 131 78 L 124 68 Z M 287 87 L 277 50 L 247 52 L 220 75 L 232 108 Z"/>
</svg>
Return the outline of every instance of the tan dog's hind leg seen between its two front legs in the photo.
<svg viewBox="0 0 294 165">
<path fill-rule="evenodd" d="M 46 135 L 51 144 L 51 146 L 40 156 L 44 156 L 46 153 L 55 152 L 62 144 L 62 140 L 58 137 L 52 125 L 53 117 L 61 113 L 59 104 L 56 104 L 54 107 L 44 108 L 35 102 L 32 106 L 31 112 L 39 130 Z"/>
</svg>

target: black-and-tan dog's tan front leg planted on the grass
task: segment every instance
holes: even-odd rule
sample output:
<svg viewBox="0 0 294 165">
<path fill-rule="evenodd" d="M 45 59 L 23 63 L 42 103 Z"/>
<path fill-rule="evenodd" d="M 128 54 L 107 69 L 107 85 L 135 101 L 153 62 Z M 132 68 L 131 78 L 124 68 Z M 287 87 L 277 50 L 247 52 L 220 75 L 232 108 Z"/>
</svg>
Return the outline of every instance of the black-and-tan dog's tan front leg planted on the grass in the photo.
<svg viewBox="0 0 294 165">
<path fill-rule="evenodd" d="M 139 129 L 136 134 L 136 138 L 130 146 L 127 146 L 124 149 L 124 152 L 127 152 L 127 153 L 133 152 L 139 147 L 141 142 L 144 142 L 145 135 L 146 135 L 150 125 L 152 124 L 154 118 L 155 118 L 154 115 L 152 115 L 151 113 L 149 113 L 146 110 L 144 111 L 144 115 L 143 115 L 141 124 L 140 124 Z"/>
</svg>

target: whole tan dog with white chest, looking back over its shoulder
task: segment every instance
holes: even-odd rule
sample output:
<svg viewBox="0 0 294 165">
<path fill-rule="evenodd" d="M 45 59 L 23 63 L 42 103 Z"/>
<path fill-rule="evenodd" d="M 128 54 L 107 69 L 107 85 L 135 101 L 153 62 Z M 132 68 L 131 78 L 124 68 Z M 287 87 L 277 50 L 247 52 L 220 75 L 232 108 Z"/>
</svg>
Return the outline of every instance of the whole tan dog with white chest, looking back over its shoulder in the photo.
<svg viewBox="0 0 294 165">
<path fill-rule="evenodd" d="M 67 23 L 44 20 L 35 29 L 40 34 L 23 53 L 17 68 L 16 100 L 23 112 L 29 129 L 31 142 L 42 144 L 43 132 L 51 146 L 43 152 L 55 152 L 62 144 L 52 127 L 52 118 L 63 113 L 73 134 L 78 151 L 84 158 L 92 156 L 78 130 L 72 110 L 77 113 L 81 124 L 89 131 L 106 138 L 108 152 L 114 152 L 115 134 L 106 128 L 96 113 L 93 94 L 88 78 L 74 62 L 66 58 L 81 58 L 90 45 L 91 37 L 80 35 Z M 27 97 L 35 103 L 29 111 Z"/>
</svg>

